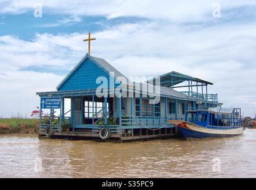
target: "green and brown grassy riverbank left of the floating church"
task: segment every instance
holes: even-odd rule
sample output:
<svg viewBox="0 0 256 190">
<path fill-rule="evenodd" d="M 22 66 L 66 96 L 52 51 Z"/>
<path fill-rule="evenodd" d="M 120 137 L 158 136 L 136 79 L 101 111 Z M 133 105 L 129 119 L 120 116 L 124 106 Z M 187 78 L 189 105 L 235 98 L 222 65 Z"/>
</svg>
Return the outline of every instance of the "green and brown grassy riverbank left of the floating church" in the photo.
<svg viewBox="0 0 256 190">
<path fill-rule="evenodd" d="M 38 119 L 8 118 L 0 119 L 0 134 L 38 133 Z"/>
</svg>

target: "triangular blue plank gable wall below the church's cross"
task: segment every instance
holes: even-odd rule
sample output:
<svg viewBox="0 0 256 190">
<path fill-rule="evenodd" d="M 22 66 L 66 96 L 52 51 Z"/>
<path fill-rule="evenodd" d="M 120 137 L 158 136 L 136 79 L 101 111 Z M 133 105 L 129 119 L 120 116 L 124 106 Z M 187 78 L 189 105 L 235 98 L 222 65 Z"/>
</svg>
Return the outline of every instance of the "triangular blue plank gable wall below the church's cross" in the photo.
<svg viewBox="0 0 256 190">
<path fill-rule="evenodd" d="M 58 91 L 96 89 L 101 85 L 96 84 L 96 78 L 101 76 L 106 77 L 109 83 L 108 72 L 104 71 L 95 62 L 86 58 L 76 71 L 64 81 Z"/>
</svg>

